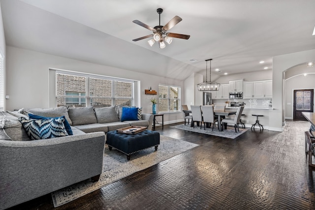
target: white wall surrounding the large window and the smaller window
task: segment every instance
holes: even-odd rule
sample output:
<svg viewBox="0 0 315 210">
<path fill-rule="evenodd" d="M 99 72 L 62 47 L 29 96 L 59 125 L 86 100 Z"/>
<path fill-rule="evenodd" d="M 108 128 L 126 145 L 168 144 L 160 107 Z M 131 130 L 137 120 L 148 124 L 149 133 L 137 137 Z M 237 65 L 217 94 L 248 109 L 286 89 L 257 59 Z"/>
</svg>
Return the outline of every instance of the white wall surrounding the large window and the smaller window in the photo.
<svg viewBox="0 0 315 210">
<path fill-rule="evenodd" d="M 49 68 L 93 73 L 118 78 L 140 81 L 141 104 L 144 113 L 152 113 L 150 98 L 158 95 L 146 95 L 145 89 L 152 87 L 158 90 L 158 84 L 184 86 L 184 82 L 164 77 L 133 72 L 125 69 L 52 56 L 35 51 L 24 50 L 11 46 L 6 47 L 7 55 L 7 110 L 24 108 L 49 107 Z M 182 91 L 181 97 L 184 97 Z M 157 110 L 158 111 L 158 110 Z M 167 114 L 164 121 L 182 120 L 182 113 Z"/>
</svg>

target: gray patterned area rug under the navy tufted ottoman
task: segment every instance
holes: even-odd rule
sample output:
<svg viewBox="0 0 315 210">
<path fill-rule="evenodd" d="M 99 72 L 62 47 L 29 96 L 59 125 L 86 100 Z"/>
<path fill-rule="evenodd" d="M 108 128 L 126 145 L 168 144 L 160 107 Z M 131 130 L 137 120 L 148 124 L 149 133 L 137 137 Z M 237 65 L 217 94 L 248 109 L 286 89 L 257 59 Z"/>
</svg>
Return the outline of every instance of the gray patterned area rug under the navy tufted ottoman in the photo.
<svg viewBox="0 0 315 210">
<path fill-rule="evenodd" d="M 132 154 L 128 161 L 126 154 L 115 149 L 108 150 L 106 145 L 103 157 L 103 173 L 99 181 L 92 182 L 91 179 L 88 179 L 52 192 L 54 207 L 59 207 L 107 184 L 123 179 L 197 146 L 197 144 L 161 135 L 157 151 L 154 150 L 154 147 L 139 151 Z"/>
</svg>

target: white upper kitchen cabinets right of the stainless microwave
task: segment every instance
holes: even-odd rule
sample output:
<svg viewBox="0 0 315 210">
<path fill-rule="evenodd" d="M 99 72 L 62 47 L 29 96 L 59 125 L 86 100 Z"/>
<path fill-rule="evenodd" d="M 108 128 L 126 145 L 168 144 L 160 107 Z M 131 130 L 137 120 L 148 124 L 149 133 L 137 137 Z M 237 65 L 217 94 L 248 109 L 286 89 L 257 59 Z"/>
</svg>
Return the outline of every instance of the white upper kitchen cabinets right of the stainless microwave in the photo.
<svg viewBox="0 0 315 210">
<path fill-rule="evenodd" d="M 244 82 L 243 98 L 272 98 L 272 80 Z"/>
</svg>

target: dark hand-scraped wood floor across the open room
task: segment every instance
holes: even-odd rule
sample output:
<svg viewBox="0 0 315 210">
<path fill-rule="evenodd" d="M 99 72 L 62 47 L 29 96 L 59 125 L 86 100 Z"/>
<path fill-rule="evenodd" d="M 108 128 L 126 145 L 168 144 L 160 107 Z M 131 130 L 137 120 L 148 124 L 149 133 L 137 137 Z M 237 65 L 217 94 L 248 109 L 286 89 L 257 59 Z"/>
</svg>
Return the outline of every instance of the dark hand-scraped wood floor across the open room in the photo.
<svg viewBox="0 0 315 210">
<path fill-rule="evenodd" d="M 49 194 L 11 209 L 315 209 L 315 170 L 304 149 L 309 122 L 287 120 L 284 132 L 250 129 L 234 140 L 169 126 L 156 130 L 200 146 L 59 208 Z"/>
</svg>

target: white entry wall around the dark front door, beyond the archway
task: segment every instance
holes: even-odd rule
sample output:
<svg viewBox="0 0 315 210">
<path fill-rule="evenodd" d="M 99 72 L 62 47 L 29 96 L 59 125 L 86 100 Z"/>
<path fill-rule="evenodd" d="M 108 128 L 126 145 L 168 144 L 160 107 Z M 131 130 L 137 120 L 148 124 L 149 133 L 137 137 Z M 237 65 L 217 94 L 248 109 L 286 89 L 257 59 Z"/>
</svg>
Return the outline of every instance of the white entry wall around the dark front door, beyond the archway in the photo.
<svg viewBox="0 0 315 210">
<path fill-rule="evenodd" d="M 315 66 L 313 68 L 315 69 Z M 314 81 L 314 73 L 305 77 L 298 75 L 285 80 L 285 119 L 293 119 L 293 90 L 315 89 Z"/>
</svg>

